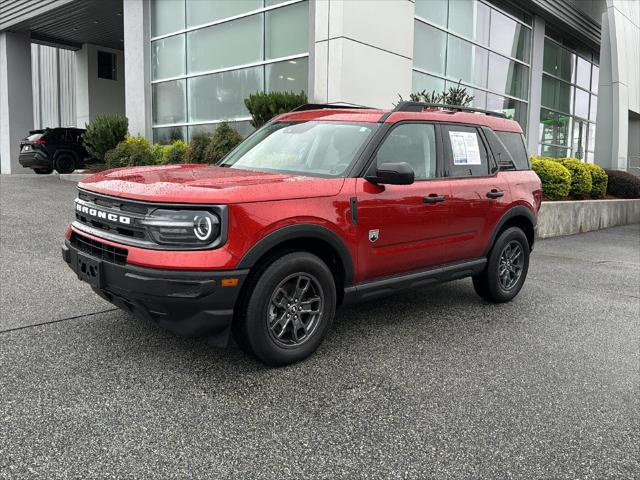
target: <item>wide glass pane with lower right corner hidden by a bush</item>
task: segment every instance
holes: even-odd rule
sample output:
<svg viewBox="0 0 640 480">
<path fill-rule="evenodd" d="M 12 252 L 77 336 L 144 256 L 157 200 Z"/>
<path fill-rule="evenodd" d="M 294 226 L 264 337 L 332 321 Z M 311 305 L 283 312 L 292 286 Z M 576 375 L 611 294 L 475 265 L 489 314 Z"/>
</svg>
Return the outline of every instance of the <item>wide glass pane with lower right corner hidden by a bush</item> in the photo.
<svg viewBox="0 0 640 480">
<path fill-rule="evenodd" d="M 261 91 L 263 67 L 193 77 L 189 82 L 189 122 L 247 117 L 244 99 Z"/>
</svg>

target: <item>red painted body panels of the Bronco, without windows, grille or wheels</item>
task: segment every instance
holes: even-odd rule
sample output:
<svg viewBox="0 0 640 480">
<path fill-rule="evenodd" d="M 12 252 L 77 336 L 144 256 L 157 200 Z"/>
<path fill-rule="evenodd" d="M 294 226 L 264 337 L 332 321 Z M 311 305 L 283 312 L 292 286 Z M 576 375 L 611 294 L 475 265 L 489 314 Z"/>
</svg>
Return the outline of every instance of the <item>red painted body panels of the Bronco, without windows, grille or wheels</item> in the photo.
<svg viewBox="0 0 640 480">
<path fill-rule="evenodd" d="M 276 121 L 378 122 L 384 113 L 311 110 L 284 114 Z M 385 121 L 401 120 L 465 123 L 521 132 L 513 121 L 472 113 L 396 112 Z M 523 205 L 536 215 L 540 205 L 540 181 L 530 170 L 397 186 L 375 185 L 363 178 L 323 179 L 174 165 L 107 171 L 85 179 L 79 187 L 134 200 L 229 206 L 228 240 L 212 250 L 148 250 L 96 238 L 126 248 L 129 264 L 175 270 L 233 270 L 243 255 L 269 233 L 292 224 L 312 223 L 328 228 L 344 242 L 353 260 L 355 283 L 478 258 L 510 208 Z M 486 192 L 492 189 L 505 195 L 488 199 Z M 444 195 L 447 201 L 425 204 L 423 198 L 432 194 Z M 355 224 L 351 218 L 353 197 L 358 202 Z M 368 239 L 371 229 L 380 229 L 376 243 Z"/>
</svg>

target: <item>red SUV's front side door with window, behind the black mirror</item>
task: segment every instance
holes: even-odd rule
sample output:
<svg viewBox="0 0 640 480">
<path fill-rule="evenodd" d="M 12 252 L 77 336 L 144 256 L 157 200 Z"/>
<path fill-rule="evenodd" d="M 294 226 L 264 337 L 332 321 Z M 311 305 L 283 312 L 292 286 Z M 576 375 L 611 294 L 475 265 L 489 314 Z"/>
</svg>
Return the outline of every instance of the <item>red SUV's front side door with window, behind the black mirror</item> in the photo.
<svg viewBox="0 0 640 480">
<path fill-rule="evenodd" d="M 421 270 L 442 263 L 447 239 L 449 184 L 440 179 L 435 125 L 399 123 L 387 134 L 370 168 L 407 162 L 412 185 L 356 183 L 358 270 L 356 281 Z"/>
</svg>

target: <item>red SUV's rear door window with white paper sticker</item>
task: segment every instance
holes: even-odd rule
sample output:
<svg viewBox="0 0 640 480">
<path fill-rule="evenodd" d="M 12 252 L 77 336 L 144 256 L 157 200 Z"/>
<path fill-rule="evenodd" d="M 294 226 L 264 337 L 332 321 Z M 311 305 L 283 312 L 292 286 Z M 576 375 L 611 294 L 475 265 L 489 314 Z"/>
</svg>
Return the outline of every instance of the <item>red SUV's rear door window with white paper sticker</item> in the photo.
<svg viewBox="0 0 640 480">
<path fill-rule="evenodd" d="M 448 177 L 489 175 L 489 157 L 475 127 L 448 126 L 444 132 Z"/>
</svg>

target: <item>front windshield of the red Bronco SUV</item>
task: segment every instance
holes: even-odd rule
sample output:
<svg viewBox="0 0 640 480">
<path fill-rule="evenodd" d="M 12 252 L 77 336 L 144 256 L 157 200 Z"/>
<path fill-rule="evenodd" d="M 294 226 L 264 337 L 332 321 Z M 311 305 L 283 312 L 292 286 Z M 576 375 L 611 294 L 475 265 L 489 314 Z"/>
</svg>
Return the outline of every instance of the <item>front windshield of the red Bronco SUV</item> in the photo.
<svg viewBox="0 0 640 480">
<path fill-rule="evenodd" d="M 376 123 L 276 122 L 242 142 L 220 166 L 318 177 L 345 174 Z"/>
</svg>

